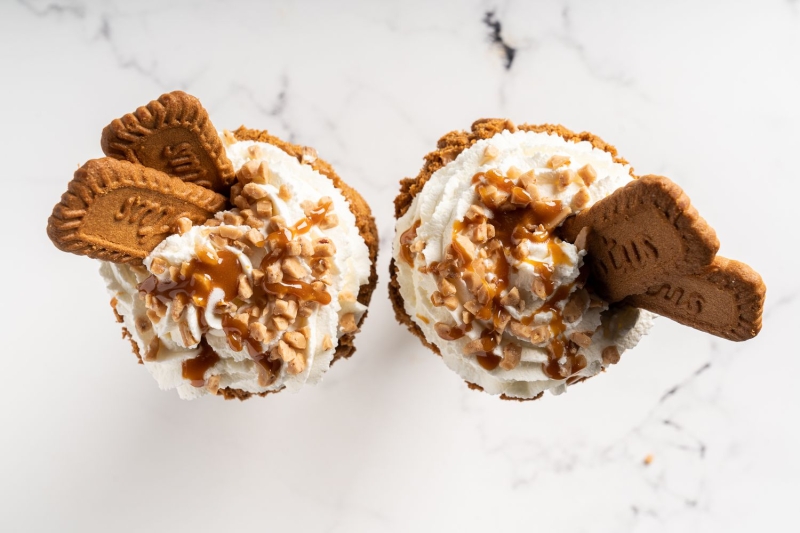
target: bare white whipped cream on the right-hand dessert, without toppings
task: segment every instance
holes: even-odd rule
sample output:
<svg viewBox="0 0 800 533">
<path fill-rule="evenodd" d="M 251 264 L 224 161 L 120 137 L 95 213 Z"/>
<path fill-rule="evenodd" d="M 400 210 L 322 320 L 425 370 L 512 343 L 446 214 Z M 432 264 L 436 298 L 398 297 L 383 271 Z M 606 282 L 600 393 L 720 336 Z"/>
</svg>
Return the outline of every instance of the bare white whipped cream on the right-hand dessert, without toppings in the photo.
<svg viewBox="0 0 800 533">
<path fill-rule="evenodd" d="M 489 146 L 497 149 L 497 156 L 485 160 L 484 154 Z M 536 184 L 541 198 L 560 200 L 563 205 L 571 205 L 582 184 L 571 183 L 563 190 L 559 190 L 554 180 L 547 179 L 548 176 L 555 175 L 547 166 L 554 155 L 569 157 L 569 163 L 560 167 L 560 170 L 577 171 L 589 164 L 596 171 L 596 180 L 587 188 L 590 199 L 584 208 L 605 198 L 633 179 L 628 165 L 615 162 L 611 154 L 595 148 L 589 142 L 575 143 L 555 134 L 503 131 L 490 139 L 478 141 L 464 150 L 454 161 L 434 172 L 422 191 L 415 196 L 405 215 L 397 221 L 393 256 L 398 268 L 397 278 L 406 313 L 422 330 L 426 340 L 438 347 L 448 367 L 466 381 L 480 385 L 491 394 L 506 394 L 516 398 L 532 398 L 545 390 L 557 394 L 566 390 L 567 380 L 551 379 L 544 373 L 542 363 L 548 361 L 548 352 L 542 346 L 523 343 L 521 361 L 515 368 L 504 370 L 497 367 L 486 370 L 478 363 L 475 356 L 463 354 L 464 345 L 480 335 L 481 327 L 473 328 L 457 340 L 442 339 L 436 333 L 434 324 L 437 322 L 453 324 L 454 321 L 456 324 L 461 323 L 459 317 L 463 307 L 459 306 L 455 311 L 450 311 L 444 306 L 434 306 L 431 295 L 437 291 L 436 280 L 433 275 L 420 272 L 419 267 L 430 266 L 431 263 L 443 259 L 445 250 L 451 243 L 454 224 L 464 219 L 471 205 L 480 203 L 472 183 L 473 176 L 479 172 L 497 169 L 506 174 L 511 167 L 516 167 L 523 173 L 534 170 L 537 176 L 542 176 L 537 179 Z M 406 230 L 418 222 L 420 225 L 416 230 L 417 240 L 421 239 L 424 242 L 424 248 L 422 253 L 416 254 L 412 268 L 401 257 L 400 238 Z M 583 255 L 586 253 L 579 252 L 574 245 L 567 242 L 560 242 L 557 246 L 565 259 L 553 269 L 551 281 L 554 292 L 559 287 L 576 280 L 583 264 Z M 546 244 L 528 242 L 527 249 L 528 259 L 550 266 L 554 264 Z M 525 262 L 514 262 L 513 265 L 518 270 L 512 269 L 509 288 L 515 286 L 518 288 L 520 296 L 526 301 L 526 308 L 522 313 L 508 307 L 506 310 L 513 318 L 519 319 L 520 316 L 535 312 L 544 302 L 531 289 L 537 276 L 534 268 Z M 574 290 L 576 287 L 572 287 L 572 291 Z M 559 309 L 563 309 L 563 305 L 562 302 Z M 573 332 L 597 330 L 592 336 L 592 344 L 579 351 L 586 358 L 587 365 L 574 374 L 575 377 L 589 377 L 600 372 L 603 368 L 601 354 L 604 348 L 616 346 L 622 353 L 625 349 L 635 346 L 652 324 L 652 315 L 640 310 L 626 310 L 625 316 L 617 317 L 617 320 L 608 316 L 609 313 L 601 318 L 601 314 L 607 309 L 608 306 L 605 304 L 602 307 L 589 308 L 577 322 L 566 324 L 564 335 L 567 337 Z M 551 313 L 539 313 L 532 325 L 548 324 L 551 318 Z M 601 322 L 605 327 L 598 330 Z M 504 337 L 507 335 L 506 331 Z M 517 342 L 516 337 L 514 340 Z M 494 353 L 501 355 L 500 348 L 496 348 Z"/>
</svg>

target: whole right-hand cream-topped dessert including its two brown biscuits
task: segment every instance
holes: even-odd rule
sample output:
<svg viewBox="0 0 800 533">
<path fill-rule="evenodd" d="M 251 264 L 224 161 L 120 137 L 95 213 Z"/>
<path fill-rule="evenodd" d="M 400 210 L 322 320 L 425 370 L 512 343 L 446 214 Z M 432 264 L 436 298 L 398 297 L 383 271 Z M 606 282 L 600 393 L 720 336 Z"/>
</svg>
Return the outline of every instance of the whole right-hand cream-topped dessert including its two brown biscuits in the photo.
<svg viewBox="0 0 800 533">
<path fill-rule="evenodd" d="M 483 119 L 425 161 L 395 199 L 389 293 L 398 321 L 470 388 L 563 392 L 619 362 L 648 310 L 727 338 L 757 332 L 760 278 L 732 290 L 745 270 L 715 259 L 716 235 L 683 191 L 637 179 L 596 136 Z M 711 306 L 723 291 L 739 311 L 723 320 L 706 305 L 701 324 L 696 304 L 664 289 L 675 283 Z"/>
</svg>

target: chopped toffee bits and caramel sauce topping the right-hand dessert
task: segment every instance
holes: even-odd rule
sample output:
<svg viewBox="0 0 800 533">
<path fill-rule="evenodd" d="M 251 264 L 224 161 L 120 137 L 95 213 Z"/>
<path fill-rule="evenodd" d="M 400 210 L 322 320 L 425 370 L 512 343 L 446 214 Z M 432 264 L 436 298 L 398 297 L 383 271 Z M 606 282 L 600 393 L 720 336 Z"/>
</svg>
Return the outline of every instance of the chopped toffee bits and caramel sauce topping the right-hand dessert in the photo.
<svg viewBox="0 0 800 533">
<path fill-rule="evenodd" d="M 484 160 L 494 157 L 496 154 L 487 153 Z M 533 171 L 522 173 L 514 167 L 505 175 L 495 169 L 477 173 L 472 184 L 479 201 L 453 225 L 451 244 L 445 249 L 443 260 L 419 267 L 436 280 L 439 290 L 430 297 L 435 307 L 463 309 L 456 314 L 460 320 L 456 319 L 455 324 L 436 322 L 434 330 L 448 341 L 464 337 L 473 328 L 479 331 L 478 338 L 467 342 L 463 352 L 475 357 L 486 370 L 498 366 L 512 370 L 521 360 L 522 346 L 509 342 L 508 337 L 504 339 L 504 332 L 512 339 L 545 348 L 548 361 L 542 364 L 542 371 L 551 379 L 567 379 L 587 365 L 578 351 L 591 344 L 591 332 L 572 333 L 569 338 L 565 335 L 567 324 L 578 321 L 592 305 L 592 297 L 582 288 L 586 276 L 582 273 L 573 283 L 557 289 L 553 279 L 556 268 L 569 264 L 570 259 L 551 232 L 572 213 L 572 208 L 559 200 L 540 198 L 536 187 L 540 177 L 552 181 L 557 190 L 573 182 L 588 185 L 596 177 L 588 165 L 577 172 L 560 169 L 568 164 L 568 157 L 553 156 L 547 164 L 553 171 L 547 172 L 546 177 Z M 572 203 L 574 208 L 588 204 L 585 188 L 580 189 L 577 198 Z M 400 236 L 400 256 L 412 267 L 424 248 L 417 236 L 419 226 L 420 221 L 416 221 Z M 584 234 L 580 248 L 585 247 L 585 240 Z M 551 261 L 531 258 L 530 244 L 544 244 Z M 523 264 L 533 267 L 535 277 L 530 292 L 542 303 L 534 312 L 515 320 L 511 310 L 523 313 L 526 302 L 518 287 L 509 286 L 509 275 Z M 457 290 L 459 281 L 466 291 Z M 542 315 L 544 320 L 536 321 Z M 604 354 L 604 363 L 613 359 L 610 352 Z"/>
</svg>

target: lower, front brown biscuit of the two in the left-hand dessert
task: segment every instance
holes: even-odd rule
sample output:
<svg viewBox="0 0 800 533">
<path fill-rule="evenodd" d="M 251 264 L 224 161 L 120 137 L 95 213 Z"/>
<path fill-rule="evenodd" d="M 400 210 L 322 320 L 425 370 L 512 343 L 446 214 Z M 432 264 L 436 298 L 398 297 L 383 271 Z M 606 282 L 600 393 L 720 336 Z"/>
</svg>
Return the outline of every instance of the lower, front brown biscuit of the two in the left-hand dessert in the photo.
<svg viewBox="0 0 800 533">
<path fill-rule="evenodd" d="M 141 264 L 178 221 L 202 224 L 227 198 L 157 170 L 111 158 L 75 172 L 47 234 L 59 249 L 116 263 Z"/>
</svg>

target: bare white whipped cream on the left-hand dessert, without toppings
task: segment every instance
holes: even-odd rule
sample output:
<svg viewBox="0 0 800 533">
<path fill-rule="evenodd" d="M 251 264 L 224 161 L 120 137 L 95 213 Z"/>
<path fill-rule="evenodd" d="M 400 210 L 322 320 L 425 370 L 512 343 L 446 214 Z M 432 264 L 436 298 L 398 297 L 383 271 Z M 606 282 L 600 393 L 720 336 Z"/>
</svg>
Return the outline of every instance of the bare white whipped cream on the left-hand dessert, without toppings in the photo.
<svg viewBox="0 0 800 533">
<path fill-rule="evenodd" d="M 260 156 L 253 157 L 248 151 L 248 148 L 253 145 L 260 148 Z M 308 233 L 308 237 L 311 239 L 317 237 L 330 239 L 335 246 L 336 253 L 334 266 L 330 270 L 331 282 L 325 289 L 331 296 L 331 302 L 327 305 L 319 305 L 307 319 L 306 325 L 310 334 L 307 339 L 307 348 L 304 350 L 306 365 L 302 372 L 290 374 L 287 372 L 287 365 L 283 364 L 274 383 L 266 387 L 259 386 L 256 363 L 249 356 L 246 348 L 235 351 L 229 346 L 222 330 L 221 320 L 213 312 L 214 304 L 223 295 L 222 290 L 215 289 L 211 293 L 205 310 L 196 307 L 193 303 L 188 303 L 186 311 L 184 311 L 184 319 L 192 337 L 197 340 L 201 338 L 200 315 L 205 315 L 205 322 L 209 327 L 205 334 L 206 341 L 220 358 L 205 372 L 206 380 L 211 376 L 219 376 L 220 388 L 230 387 L 250 393 L 277 391 L 283 388 L 296 391 L 306 383 L 319 382 L 330 367 L 337 340 L 343 333 L 339 326 L 340 318 L 347 313 L 353 313 L 356 323 L 358 323 L 366 311 L 366 307 L 355 301 L 353 296 L 357 296 L 361 285 L 368 281 L 371 265 L 369 252 L 364 239 L 358 232 L 355 216 L 350 211 L 347 200 L 334 187 L 329 178 L 268 143 L 234 142 L 226 148 L 226 152 L 237 172 L 249 161 L 260 160 L 267 164 L 270 171 L 269 181 L 259 187 L 264 189 L 267 197 L 272 201 L 274 214 L 282 216 L 288 226 L 304 218 L 304 211 L 301 207 L 304 201 L 316 203 L 320 198 L 326 196 L 333 201 L 330 212 L 334 213 L 339 220 L 338 225 L 332 228 L 321 229 L 314 226 Z M 284 199 L 286 198 L 285 194 L 283 197 L 279 194 L 282 185 L 288 187 L 290 192 L 288 200 Z M 232 209 L 230 212 L 238 214 L 239 210 Z M 217 213 L 216 218 L 222 220 L 223 213 Z M 250 228 L 244 227 L 243 229 L 249 230 Z M 146 353 L 154 336 L 158 336 L 160 339 L 157 360 L 145 360 L 144 366 L 156 379 L 160 388 L 177 389 L 180 397 L 184 399 L 193 399 L 208 394 L 205 387 L 193 386 L 182 375 L 183 362 L 198 356 L 199 345 L 197 342 L 189 346 L 185 345 L 179 325 L 170 316 L 171 304 L 167 309 L 166 316 L 152 324 L 151 328 L 144 328 L 144 331 L 141 327 L 137 329 L 137 320 L 149 321 L 145 303 L 138 294 L 138 285 L 152 274 L 149 268 L 155 258 L 160 258 L 167 264 L 175 266 L 180 266 L 184 261 L 197 259 L 196 250 L 209 244 L 208 230 L 208 226 L 195 226 L 183 235 L 171 235 L 145 259 L 144 268 L 133 268 L 115 263 L 103 263 L 100 268 L 108 290 L 115 298 L 116 311 L 123 317 L 125 327 L 132 334 L 140 353 L 142 355 Z M 266 228 L 262 228 L 260 231 L 262 235 L 266 235 Z M 252 270 L 258 267 L 261 257 L 264 255 L 263 249 L 252 247 L 247 254 L 235 247 L 229 247 L 228 250 L 237 255 L 240 268 L 252 281 Z M 158 277 L 166 280 L 169 274 L 163 273 Z M 294 329 L 293 326 L 290 326 L 287 331 Z M 268 344 L 265 343 L 265 351 L 269 351 L 271 347 L 275 346 L 283 338 L 284 333 L 278 332 L 273 340 Z M 333 347 L 323 348 L 325 336 L 332 340 Z"/>
</svg>

